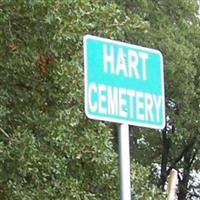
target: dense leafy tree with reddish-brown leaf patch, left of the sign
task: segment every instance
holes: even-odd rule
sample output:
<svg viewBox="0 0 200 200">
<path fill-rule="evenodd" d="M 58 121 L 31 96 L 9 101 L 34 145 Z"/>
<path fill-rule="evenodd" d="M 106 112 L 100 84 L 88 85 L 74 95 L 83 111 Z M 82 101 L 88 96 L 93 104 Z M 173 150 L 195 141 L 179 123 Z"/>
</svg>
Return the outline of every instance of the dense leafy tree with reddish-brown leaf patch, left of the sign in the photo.
<svg viewBox="0 0 200 200">
<path fill-rule="evenodd" d="M 85 34 L 145 25 L 114 2 L 0 3 L 0 199 L 118 199 L 111 128 L 83 112 Z"/>
</svg>

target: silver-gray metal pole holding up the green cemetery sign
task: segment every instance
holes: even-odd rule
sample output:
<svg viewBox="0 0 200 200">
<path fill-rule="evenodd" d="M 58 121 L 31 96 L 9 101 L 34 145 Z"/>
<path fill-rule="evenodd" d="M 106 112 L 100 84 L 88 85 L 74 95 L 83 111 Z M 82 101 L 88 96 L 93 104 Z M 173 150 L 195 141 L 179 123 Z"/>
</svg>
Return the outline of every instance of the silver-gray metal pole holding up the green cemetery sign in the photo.
<svg viewBox="0 0 200 200">
<path fill-rule="evenodd" d="M 131 200 L 130 181 L 130 149 L 129 149 L 129 126 L 120 124 L 119 136 L 119 159 L 120 159 L 120 190 L 121 200 Z"/>
</svg>

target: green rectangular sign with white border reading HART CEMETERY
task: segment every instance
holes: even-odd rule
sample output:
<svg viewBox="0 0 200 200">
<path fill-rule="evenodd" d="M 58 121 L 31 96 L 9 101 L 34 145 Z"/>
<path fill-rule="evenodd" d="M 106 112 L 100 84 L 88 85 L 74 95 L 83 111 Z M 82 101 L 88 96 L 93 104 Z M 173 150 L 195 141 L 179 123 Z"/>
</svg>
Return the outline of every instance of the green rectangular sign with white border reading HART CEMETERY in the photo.
<svg viewBox="0 0 200 200">
<path fill-rule="evenodd" d="M 86 35 L 84 73 L 85 113 L 89 118 L 164 128 L 160 51 Z"/>
</svg>

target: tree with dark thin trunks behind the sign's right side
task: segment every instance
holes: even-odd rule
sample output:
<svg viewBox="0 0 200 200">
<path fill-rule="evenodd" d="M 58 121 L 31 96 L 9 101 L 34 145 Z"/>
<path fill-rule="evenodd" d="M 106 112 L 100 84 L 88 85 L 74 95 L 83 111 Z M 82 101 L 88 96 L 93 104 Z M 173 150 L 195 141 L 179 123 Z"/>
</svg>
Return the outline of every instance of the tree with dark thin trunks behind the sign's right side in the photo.
<svg viewBox="0 0 200 200">
<path fill-rule="evenodd" d="M 145 34 L 127 32 L 126 38 L 132 43 L 160 49 L 165 62 L 166 128 L 157 135 L 152 130 L 133 129 L 133 157 L 143 165 L 160 163 L 158 183 L 163 189 L 170 170 L 177 169 L 180 175 L 178 199 L 185 199 L 190 173 L 192 169 L 199 169 L 197 2 L 127 0 L 121 5 L 149 24 Z"/>
</svg>

